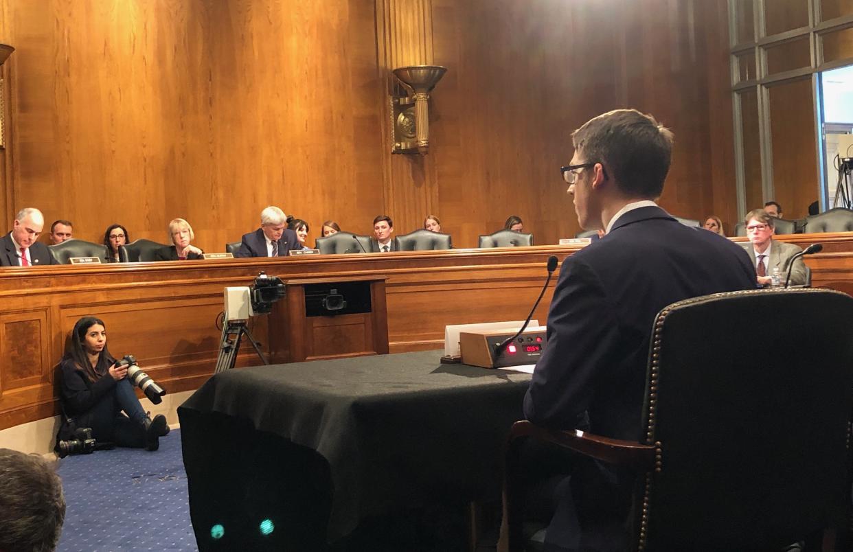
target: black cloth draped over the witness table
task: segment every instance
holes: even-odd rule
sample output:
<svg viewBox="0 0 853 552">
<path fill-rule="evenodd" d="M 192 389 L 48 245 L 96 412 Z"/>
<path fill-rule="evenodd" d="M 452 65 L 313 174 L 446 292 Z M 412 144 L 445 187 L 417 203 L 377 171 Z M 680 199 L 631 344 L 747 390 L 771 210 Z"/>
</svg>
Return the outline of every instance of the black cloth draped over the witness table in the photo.
<svg viewBox="0 0 853 552">
<path fill-rule="evenodd" d="M 447 497 L 500 496 L 501 451 L 530 375 L 410 352 L 215 375 L 179 409 L 248 419 L 316 450 L 334 484 L 328 539 Z"/>
</svg>

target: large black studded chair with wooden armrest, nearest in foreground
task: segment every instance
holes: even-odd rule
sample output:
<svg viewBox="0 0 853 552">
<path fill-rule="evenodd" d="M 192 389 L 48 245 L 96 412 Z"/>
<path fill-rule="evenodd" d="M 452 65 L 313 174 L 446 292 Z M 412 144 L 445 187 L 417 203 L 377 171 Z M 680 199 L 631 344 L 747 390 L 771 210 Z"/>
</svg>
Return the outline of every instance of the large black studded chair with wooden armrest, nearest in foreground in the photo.
<svg viewBox="0 0 853 552">
<path fill-rule="evenodd" d="M 756 312 L 775 318 L 760 354 Z M 827 543 L 847 525 L 850 503 L 851 327 L 853 298 L 823 289 L 717 293 L 664 308 L 653 325 L 640 442 L 514 424 L 509 549 L 525 547 L 514 478 L 523 436 L 638 474 L 634 549 L 782 550 L 798 540 L 820 549 L 823 537 L 833 549 Z"/>
</svg>

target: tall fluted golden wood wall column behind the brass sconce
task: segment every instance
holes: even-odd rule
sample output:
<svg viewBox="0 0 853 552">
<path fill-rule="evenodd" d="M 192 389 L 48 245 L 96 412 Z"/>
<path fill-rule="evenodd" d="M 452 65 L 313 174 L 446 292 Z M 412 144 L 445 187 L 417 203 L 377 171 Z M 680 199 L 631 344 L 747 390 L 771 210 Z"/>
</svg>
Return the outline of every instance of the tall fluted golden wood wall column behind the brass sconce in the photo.
<svg viewBox="0 0 853 552">
<path fill-rule="evenodd" d="M 386 82 L 381 98 L 382 161 L 386 214 L 394 220 L 395 234 L 421 228 L 427 214 L 438 208 L 438 186 L 432 155 L 392 154 L 392 95 L 403 87 L 392 69 L 409 65 L 433 65 L 432 0 L 375 0 L 377 66 Z M 453 71 L 453 67 L 450 67 Z M 440 94 L 441 83 L 436 87 Z M 435 124 L 431 108 L 430 125 Z M 436 144 L 431 143 L 430 148 Z M 440 145 L 439 145 L 440 147 Z"/>
</svg>

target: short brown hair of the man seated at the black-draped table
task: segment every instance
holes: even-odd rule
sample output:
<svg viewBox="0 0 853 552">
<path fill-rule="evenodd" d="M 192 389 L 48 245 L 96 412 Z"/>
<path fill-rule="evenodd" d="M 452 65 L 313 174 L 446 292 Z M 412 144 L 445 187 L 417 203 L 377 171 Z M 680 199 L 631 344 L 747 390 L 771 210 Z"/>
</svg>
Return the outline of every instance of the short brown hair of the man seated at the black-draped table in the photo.
<svg viewBox="0 0 853 552">
<path fill-rule="evenodd" d="M 616 109 L 589 119 L 572 132 L 575 150 L 601 163 L 630 197 L 657 200 L 670 171 L 672 132 L 651 115 Z"/>
</svg>

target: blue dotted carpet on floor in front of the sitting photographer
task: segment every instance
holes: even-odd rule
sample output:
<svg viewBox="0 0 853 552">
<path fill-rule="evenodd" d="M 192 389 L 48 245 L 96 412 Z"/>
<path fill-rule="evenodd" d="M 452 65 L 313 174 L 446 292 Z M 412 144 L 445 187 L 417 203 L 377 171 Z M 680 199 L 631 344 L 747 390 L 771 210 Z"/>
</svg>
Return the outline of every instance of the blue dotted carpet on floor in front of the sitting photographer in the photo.
<svg viewBox="0 0 853 552">
<path fill-rule="evenodd" d="M 67 513 L 60 552 L 198 550 L 189 521 L 181 432 L 160 450 L 98 450 L 60 461 Z"/>
</svg>

